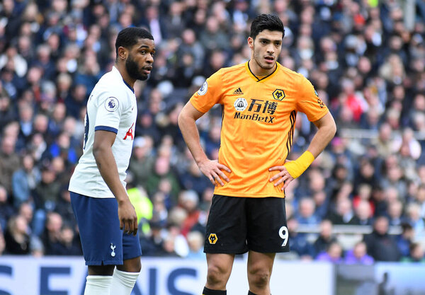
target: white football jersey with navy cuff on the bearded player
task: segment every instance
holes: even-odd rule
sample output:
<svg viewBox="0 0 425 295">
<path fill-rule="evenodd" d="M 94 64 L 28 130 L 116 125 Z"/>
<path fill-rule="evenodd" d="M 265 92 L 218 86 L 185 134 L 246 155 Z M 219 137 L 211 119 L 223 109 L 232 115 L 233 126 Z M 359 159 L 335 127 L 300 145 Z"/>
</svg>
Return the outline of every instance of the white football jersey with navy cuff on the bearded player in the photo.
<svg viewBox="0 0 425 295">
<path fill-rule="evenodd" d="M 69 181 L 69 190 L 99 198 L 114 197 L 103 180 L 93 155 L 94 132 L 106 130 L 117 134 L 112 146 L 121 183 L 130 162 L 137 120 L 137 102 L 133 89 L 125 83 L 118 69 L 103 75 L 87 102 L 83 155 Z"/>
</svg>

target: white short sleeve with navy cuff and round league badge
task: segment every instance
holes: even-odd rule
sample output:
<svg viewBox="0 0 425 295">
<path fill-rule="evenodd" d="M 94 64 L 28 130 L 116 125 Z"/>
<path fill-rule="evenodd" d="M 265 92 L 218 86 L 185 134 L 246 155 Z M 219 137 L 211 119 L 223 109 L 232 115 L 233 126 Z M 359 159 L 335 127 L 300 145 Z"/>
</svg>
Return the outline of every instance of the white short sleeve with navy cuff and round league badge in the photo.
<svg viewBox="0 0 425 295">
<path fill-rule="evenodd" d="M 110 93 L 111 94 L 111 93 Z M 98 100 L 94 130 L 118 133 L 124 102 L 115 96 L 103 96 Z"/>
</svg>

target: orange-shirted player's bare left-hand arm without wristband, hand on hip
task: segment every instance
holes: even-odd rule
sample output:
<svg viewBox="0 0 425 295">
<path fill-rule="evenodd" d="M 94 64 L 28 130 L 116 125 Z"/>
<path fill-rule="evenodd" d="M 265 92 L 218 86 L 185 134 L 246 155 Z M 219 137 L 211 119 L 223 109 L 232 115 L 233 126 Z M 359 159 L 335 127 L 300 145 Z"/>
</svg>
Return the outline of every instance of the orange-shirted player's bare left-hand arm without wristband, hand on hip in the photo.
<svg viewBox="0 0 425 295">
<path fill-rule="evenodd" d="M 215 185 L 215 183 L 219 183 L 223 186 L 225 185 L 223 180 L 229 182 L 229 178 L 222 170 L 226 170 L 228 173 L 230 173 L 231 170 L 225 165 L 218 163 L 218 161 L 210 160 L 207 155 L 205 155 L 202 146 L 200 146 L 196 120 L 202 117 L 203 114 L 203 112 L 196 110 L 191 102 L 186 103 L 179 115 L 179 127 L 181 134 L 183 134 L 183 139 L 186 141 L 200 171 L 208 177 L 212 184 Z"/>
</svg>

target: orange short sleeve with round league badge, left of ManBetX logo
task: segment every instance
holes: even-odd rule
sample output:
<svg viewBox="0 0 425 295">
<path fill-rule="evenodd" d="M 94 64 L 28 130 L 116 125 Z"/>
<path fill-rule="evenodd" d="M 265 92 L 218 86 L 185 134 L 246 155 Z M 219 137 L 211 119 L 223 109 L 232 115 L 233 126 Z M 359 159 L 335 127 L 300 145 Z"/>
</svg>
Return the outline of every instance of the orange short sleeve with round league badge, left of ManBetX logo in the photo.
<svg viewBox="0 0 425 295">
<path fill-rule="evenodd" d="M 220 103 L 220 89 L 222 89 L 221 70 L 212 74 L 212 76 L 203 83 L 203 86 L 193 94 L 190 100 L 193 107 L 200 112 L 208 112 L 213 105 Z"/>
</svg>

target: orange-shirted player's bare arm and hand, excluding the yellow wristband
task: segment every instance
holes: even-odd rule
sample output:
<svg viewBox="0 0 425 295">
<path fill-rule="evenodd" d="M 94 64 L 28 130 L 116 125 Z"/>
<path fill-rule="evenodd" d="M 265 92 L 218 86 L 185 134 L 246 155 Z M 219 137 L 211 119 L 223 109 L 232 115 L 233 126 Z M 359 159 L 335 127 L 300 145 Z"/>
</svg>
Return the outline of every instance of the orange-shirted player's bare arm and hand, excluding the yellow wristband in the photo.
<svg viewBox="0 0 425 295">
<path fill-rule="evenodd" d="M 317 132 L 316 134 L 314 134 L 312 142 L 310 143 L 310 146 L 308 146 L 307 151 L 309 151 L 312 154 L 312 157 L 314 159 L 314 158 L 317 158 L 317 156 L 319 156 L 320 153 L 322 153 L 322 151 L 329 144 L 331 139 L 334 138 L 335 132 L 336 132 L 336 125 L 335 125 L 334 117 L 332 117 L 330 112 L 328 112 L 319 120 L 314 121 L 313 123 L 317 127 Z M 300 158 L 298 158 L 296 161 L 299 161 Z M 274 183 L 275 186 L 278 186 L 281 183 L 284 183 L 282 187 L 282 190 L 284 190 L 285 187 L 287 187 L 288 184 L 294 180 L 294 177 L 293 175 L 289 173 L 287 166 L 289 163 L 297 164 L 296 161 L 290 161 L 288 163 L 285 163 L 285 165 L 283 166 L 273 166 L 270 169 L 268 169 L 269 171 L 280 171 L 279 173 L 277 173 L 276 175 L 273 175 L 273 177 L 270 178 L 270 182 L 277 180 L 276 183 Z M 307 165 L 307 167 L 308 166 L 310 166 L 310 163 Z M 302 170 L 302 172 L 304 172 L 304 170 Z"/>
</svg>

